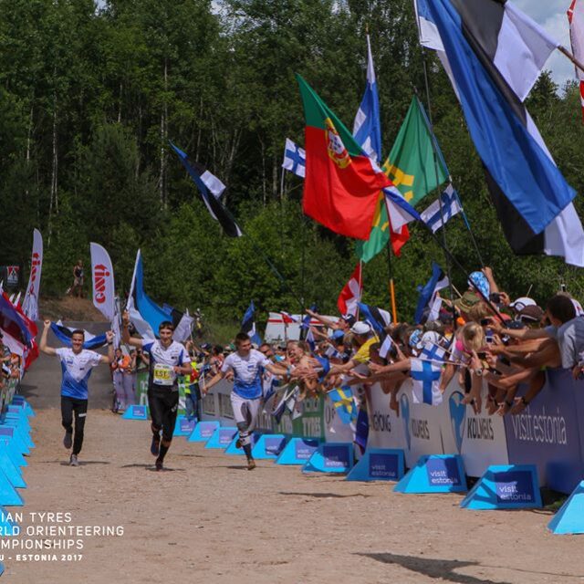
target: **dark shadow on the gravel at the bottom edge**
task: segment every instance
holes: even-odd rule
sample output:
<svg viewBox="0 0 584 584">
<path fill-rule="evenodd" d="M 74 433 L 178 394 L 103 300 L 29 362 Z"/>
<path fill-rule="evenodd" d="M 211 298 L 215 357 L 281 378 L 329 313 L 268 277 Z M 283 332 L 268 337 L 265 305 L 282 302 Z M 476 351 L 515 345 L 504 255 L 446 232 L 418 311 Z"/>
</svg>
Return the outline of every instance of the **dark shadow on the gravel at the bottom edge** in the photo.
<svg viewBox="0 0 584 584">
<path fill-rule="evenodd" d="M 454 570 L 466 568 L 467 566 L 480 566 L 485 568 L 479 562 L 464 562 L 456 559 L 431 559 L 418 558 L 416 556 L 398 556 L 397 554 L 363 554 L 357 553 L 357 556 L 375 559 L 383 564 L 397 564 L 402 568 L 412 570 L 418 574 L 423 574 L 429 578 L 446 580 L 448 582 L 457 582 L 458 584 L 508 584 L 504 580 L 489 580 L 475 578 L 474 576 L 465 576 L 457 574 Z"/>
</svg>

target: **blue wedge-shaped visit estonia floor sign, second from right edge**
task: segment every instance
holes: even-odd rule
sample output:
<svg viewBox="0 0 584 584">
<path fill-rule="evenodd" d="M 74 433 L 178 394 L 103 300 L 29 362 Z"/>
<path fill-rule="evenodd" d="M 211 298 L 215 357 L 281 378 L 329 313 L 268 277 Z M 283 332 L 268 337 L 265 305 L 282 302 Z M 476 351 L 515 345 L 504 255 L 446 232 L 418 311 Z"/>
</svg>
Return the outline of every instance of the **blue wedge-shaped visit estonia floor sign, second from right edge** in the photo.
<svg viewBox="0 0 584 584">
<path fill-rule="evenodd" d="M 489 466 L 460 506 L 476 510 L 541 507 L 535 464 Z"/>
</svg>

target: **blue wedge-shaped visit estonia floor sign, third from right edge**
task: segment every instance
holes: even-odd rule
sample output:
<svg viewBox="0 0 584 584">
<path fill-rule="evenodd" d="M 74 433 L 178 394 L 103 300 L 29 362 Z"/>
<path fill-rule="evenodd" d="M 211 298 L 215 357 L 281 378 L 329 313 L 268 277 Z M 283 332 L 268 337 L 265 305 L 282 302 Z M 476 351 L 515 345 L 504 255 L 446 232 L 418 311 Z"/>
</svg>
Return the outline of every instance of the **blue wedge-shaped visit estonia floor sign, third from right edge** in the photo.
<svg viewBox="0 0 584 584">
<path fill-rule="evenodd" d="M 464 493 L 463 457 L 459 454 L 424 454 L 393 490 L 396 493 Z"/>
</svg>

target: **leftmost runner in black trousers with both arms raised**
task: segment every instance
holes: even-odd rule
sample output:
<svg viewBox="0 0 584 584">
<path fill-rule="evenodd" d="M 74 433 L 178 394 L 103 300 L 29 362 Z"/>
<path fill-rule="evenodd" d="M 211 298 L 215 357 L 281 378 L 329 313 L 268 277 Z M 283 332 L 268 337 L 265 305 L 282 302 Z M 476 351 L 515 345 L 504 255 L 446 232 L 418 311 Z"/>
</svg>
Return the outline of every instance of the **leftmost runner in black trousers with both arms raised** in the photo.
<svg viewBox="0 0 584 584">
<path fill-rule="evenodd" d="M 61 418 L 65 428 L 63 445 L 73 451 L 69 457 L 71 466 L 78 466 L 78 454 L 83 445 L 83 430 L 88 413 L 88 380 L 91 370 L 99 363 L 109 365 L 114 360 L 113 333 L 106 333 L 108 340 L 108 356 L 99 355 L 93 350 L 83 349 L 85 333 L 83 330 L 74 330 L 71 334 L 71 347 L 53 349 L 47 345 L 50 320 L 45 320 L 45 328 L 40 338 L 39 349 L 47 355 L 57 355 L 61 360 L 63 381 L 61 381 Z M 75 413 L 75 435 L 73 435 L 73 413 Z"/>
</svg>

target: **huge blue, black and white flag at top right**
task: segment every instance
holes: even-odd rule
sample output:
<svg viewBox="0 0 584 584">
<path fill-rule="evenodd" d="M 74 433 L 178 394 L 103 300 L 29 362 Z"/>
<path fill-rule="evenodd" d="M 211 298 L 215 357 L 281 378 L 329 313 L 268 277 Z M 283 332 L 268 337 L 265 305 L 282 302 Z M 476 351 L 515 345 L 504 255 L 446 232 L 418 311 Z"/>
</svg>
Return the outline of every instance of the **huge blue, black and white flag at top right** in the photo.
<svg viewBox="0 0 584 584">
<path fill-rule="evenodd" d="M 576 193 L 523 104 L 558 42 L 505 0 L 416 0 L 416 9 L 421 43 L 438 51 L 451 78 L 509 245 L 584 266 Z"/>
</svg>

